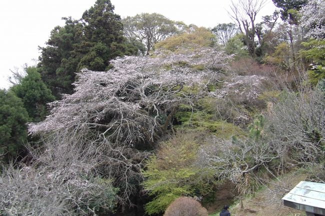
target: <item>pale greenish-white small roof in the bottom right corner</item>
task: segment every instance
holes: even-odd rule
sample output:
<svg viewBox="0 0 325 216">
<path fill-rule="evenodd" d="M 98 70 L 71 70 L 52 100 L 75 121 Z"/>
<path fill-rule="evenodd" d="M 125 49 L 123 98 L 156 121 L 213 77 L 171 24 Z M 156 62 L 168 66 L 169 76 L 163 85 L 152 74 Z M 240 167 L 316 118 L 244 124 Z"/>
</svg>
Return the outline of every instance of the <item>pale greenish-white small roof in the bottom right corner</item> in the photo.
<svg viewBox="0 0 325 216">
<path fill-rule="evenodd" d="M 325 216 L 325 184 L 302 181 L 282 200 L 284 206 Z"/>
</svg>

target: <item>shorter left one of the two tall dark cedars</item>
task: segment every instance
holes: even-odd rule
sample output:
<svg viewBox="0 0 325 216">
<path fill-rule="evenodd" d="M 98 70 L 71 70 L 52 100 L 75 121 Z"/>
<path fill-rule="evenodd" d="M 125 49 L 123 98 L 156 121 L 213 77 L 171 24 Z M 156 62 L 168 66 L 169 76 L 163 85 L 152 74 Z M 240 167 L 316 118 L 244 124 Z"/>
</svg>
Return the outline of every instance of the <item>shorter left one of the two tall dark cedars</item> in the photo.
<svg viewBox="0 0 325 216">
<path fill-rule="evenodd" d="M 55 26 L 46 42 L 47 46 L 39 47 L 41 55 L 38 67 L 42 80 L 56 97 L 59 97 L 60 93 L 72 93 L 71 83 L 74 82 L 77 65 L 82 56 L 82 24 L 71 17 L 63 19 L 65 25 Z"/>
</svg>

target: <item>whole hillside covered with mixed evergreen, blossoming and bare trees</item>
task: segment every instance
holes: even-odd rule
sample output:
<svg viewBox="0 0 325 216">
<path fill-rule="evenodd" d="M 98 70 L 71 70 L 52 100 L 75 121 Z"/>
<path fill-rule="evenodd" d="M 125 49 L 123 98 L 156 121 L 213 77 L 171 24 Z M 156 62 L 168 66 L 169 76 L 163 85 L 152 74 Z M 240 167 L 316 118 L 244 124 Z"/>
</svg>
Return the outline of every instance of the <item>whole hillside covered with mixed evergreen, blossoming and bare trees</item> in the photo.
<svg viewBox="0 0 325 216">
<path fill-rule="evenodd" d="M 0 216 L 207 216 L 296 170 L 325 183 L 325 2 L 272 1 L 213 28 L 110 0 L 64 17 L 0 90 Z"/>
</svg>

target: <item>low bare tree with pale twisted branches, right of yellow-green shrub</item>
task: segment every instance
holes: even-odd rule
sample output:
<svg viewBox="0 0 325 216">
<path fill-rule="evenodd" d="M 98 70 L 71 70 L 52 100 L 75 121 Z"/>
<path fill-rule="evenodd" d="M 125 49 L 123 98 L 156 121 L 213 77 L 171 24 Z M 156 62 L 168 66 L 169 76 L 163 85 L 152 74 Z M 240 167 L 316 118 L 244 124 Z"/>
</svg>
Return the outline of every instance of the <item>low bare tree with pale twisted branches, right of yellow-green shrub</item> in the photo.
<svg viewBox="0 0 325 216">
<path fill-rule="evenodd" d="M 216 172 L 220 179 L 241 183 L 245 174 L 264 166 L 278 156 L 272 154 L 271 146 L 260 141 L 233 142 L 211 137 L 199 151 L 198 164 Z"/>
</svg>

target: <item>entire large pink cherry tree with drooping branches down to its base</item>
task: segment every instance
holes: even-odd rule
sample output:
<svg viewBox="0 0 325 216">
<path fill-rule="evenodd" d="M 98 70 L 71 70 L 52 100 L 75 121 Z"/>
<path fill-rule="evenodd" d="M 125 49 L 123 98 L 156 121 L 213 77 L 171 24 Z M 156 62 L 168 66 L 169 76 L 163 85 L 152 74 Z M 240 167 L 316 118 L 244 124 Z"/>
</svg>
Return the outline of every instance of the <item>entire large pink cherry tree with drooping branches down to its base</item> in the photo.
<svg viewBox="0 0 325 216">
<path fill-rule="evenodd" d="M 84 149 L 104 146 L 95 151 L 100 159 L 89 163 L 91 169 L 119 188 L 119 204 L 132 205 L 129 198 L 138 193 L 143 161 L 150 155 L 146 150 L 167 131 L 178 104 L 191 105 L 208 94 L 207 85 L 226 70 L 231 57 L 212 48 L 162 50 L 154 56 L 117 58 L 106 72 L 83 69 L 75 92 L 50 103 L 51 114 L 29 125 L 29 132 L 52 136 L 49 143 L 56 148 L 71 142 Z M 62 153 L 58 160 L 62 164 L 68 161 L 64 157 Z M 39 161 L 49 161 L 56 170 L 49 159 L 47 155 Z"/>
</svg>

